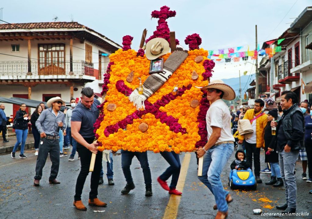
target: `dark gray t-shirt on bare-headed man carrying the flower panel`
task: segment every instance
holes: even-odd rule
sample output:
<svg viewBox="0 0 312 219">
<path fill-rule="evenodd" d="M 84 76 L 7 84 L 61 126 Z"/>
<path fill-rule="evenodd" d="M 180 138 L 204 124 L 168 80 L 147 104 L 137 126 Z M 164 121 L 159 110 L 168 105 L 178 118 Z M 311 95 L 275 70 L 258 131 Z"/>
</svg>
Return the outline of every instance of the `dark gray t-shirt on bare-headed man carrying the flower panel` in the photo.
<svg viewBox="0 0 312 219">
<path fill-rule="evenodd" d="M 93 133 L 93 124 L 100 114 L 100 111 L 97 108 L 98 105 L 100 105 L 100 101 L 97 99 L 94 99 L 90 109 L 86 108 L 81 102 L 79 102 L 71 114 L 72 122 L 81 122 L 79 134 L 83 138 L 95 137 L 95 134 Z"/>
</svg>

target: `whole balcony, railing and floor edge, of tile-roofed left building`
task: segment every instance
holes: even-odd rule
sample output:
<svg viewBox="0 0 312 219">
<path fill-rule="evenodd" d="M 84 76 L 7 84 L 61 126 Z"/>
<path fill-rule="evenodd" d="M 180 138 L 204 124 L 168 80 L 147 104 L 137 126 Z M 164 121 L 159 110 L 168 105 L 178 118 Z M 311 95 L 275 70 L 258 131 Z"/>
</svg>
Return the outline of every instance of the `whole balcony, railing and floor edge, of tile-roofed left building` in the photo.
<svg viewBox="0 0 312 219">
<path fill-rule="evenodd" d="M 30 67 L 29 67 L 30 66 Z M 31 71 L 29 71 L 31 70 Z M 72 71 L 70 71 L 72 70 Z M 75 60 L 45 63 L 35 61 L 0 61 L 0 83 L 2 85 L 26 84 L 72 84 L 92 82 L 95 78 L 93 63 Z M 32 82 L 32 83 L 30 83 Z"/>
</svg>

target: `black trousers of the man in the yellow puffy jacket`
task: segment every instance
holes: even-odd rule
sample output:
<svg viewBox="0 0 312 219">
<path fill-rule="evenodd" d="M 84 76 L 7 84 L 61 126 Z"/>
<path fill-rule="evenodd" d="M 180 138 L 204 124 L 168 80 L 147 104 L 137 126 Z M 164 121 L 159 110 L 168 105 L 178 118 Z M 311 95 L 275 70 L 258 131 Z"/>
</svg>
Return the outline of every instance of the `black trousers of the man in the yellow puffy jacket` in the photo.
<svg viewBox="0 0 312 219">
<path fill-rule="evenodd" d="M 257 148 L 257 144 L 250 144 L 244 141 L 245 149 L 246 149 L 246 160 L 249 164 L 249 167 L 252 169 L 252 155 L 254 159 L 255 166 L 255 176 L 260 177 L 260 148 Z"/>
</svg>

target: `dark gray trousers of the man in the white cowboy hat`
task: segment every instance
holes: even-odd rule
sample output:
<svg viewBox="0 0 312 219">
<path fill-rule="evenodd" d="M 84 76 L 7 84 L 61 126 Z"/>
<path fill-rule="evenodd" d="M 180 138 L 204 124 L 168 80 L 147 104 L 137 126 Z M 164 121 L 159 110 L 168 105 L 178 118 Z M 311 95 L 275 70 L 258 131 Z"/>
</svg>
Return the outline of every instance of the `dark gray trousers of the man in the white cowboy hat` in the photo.
<svg viewBox="0 0 312 219">
<path fill-rule="evenodd" d="M 41 179 L 42 169 L 46 164 L 46 158 L 48 153 L 50 153 L 50 159 L 52 162 L 51 173 L 49 180 L 56 179 L 57 173 L 60 166 L 60 145 L 59 139 L 40 139 L 40 142 L 43 141 L 43 144 L 39 144 L 39 152 L 36 162 L 36 176 L 35 179 Z"/>
</svg>

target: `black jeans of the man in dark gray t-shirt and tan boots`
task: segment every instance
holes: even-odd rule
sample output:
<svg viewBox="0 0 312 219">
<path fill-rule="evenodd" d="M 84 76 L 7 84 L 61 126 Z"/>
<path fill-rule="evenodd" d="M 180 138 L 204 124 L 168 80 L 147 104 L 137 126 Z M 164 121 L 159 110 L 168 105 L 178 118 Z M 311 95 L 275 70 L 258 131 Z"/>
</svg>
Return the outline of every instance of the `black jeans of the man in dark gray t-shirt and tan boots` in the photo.
<svg viewBox="0 0 312 219">
<path fill-rule="evenodd" d="M 85 141 L 91 144 L 94 141 L 94 138 L 85 138 Z M 81 200 L 82 189 L 85 184 L 85 179 L 89 174 L 90 161 L 92 156 L 91 151 L 89 151 L 86 147 L 82 146 L 78 142 L 77 142 L 77 151 L 80 155 L 81 169 L 76 182 L 76 194 L 74 197 L 75 201 Z M 102 164 L 102 152 L 98 151 L 95 157 L 94 169 L 93 172 L 91 173 L 91 184 L 90 184 L 91 191 L 89 193 L 90 199 L 97 198 L 98 194 L 97 189 L 99 187 L 101 164 Z"/>
</svg>

